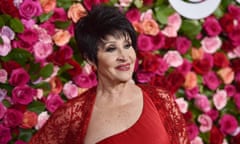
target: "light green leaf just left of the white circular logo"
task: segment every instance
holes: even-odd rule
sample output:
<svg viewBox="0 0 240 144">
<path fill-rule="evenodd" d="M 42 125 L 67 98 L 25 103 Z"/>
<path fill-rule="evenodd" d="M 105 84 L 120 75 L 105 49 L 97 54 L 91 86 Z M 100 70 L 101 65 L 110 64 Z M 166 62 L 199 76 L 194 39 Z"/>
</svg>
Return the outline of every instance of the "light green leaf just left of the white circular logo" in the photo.
<svg viewBox="0 0 240 144">
<path fill-rule="evenodd" d="M 161 24 L 167 24 L 168 17 L 173 14 L 174 10 L 166 5 L 161 5 L 154 8 L 155 17 Z"/>
</svg>

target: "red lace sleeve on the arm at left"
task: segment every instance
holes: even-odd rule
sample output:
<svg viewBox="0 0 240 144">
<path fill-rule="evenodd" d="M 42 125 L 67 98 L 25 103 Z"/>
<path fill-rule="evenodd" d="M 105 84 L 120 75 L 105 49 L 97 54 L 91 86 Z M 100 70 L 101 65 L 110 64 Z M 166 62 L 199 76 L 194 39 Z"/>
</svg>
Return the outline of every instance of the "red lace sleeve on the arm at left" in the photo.
<svg viewBox="0 0 240 144">
<path fill-rule="evenodd" d="M 29 144 L 64 144 L 71 121 L 71 107 L 57 109 L 46 124 L 32 137 Z"/>
</svg>

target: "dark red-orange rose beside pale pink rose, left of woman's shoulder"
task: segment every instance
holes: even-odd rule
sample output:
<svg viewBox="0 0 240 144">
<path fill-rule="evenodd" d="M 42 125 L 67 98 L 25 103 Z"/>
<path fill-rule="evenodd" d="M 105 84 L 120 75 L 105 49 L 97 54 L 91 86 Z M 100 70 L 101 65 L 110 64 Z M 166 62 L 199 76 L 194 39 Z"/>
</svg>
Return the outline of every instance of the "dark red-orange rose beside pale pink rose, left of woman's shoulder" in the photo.
<svg viewBox="0 0 240 144">
<path fill-rule="evenodd" d="M 63 89 L 62 82 L 58 77 L 53 77 L 50 80 L 50 86 L 51 86 L 51 93 L 54 93 L 54 94 L 59 94 Z"/>
</svg>

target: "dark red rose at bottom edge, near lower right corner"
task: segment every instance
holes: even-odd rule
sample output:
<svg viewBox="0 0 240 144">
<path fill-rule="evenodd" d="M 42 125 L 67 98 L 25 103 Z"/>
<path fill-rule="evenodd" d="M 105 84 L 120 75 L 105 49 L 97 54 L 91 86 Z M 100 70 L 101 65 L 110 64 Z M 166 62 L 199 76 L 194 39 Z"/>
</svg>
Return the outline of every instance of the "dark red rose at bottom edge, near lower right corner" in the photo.
<svg viewBox="0 0 240 144">
<path fill-rule="evenodd" d="M 216 127 L 213 126 L 210 131 L 210 144 L 222 144 L 223 143 L 224 135 L 223 133 Z"/>
</svg>

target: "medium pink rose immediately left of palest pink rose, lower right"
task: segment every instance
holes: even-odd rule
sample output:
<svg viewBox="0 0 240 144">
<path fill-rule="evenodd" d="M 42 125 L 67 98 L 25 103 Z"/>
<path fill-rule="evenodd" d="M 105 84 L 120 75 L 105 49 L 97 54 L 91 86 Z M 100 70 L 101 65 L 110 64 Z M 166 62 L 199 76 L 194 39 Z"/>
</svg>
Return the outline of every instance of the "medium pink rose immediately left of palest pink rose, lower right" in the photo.
<svg viewBox="0 0 240 144">
<path fill-rule="evenodd" d="M 203 112 L 208 112 L 211 109 L 210 102 L 207 96 L 203 94 L 198 94 L 195 98 L 195 105 Z"/>
</svg>

